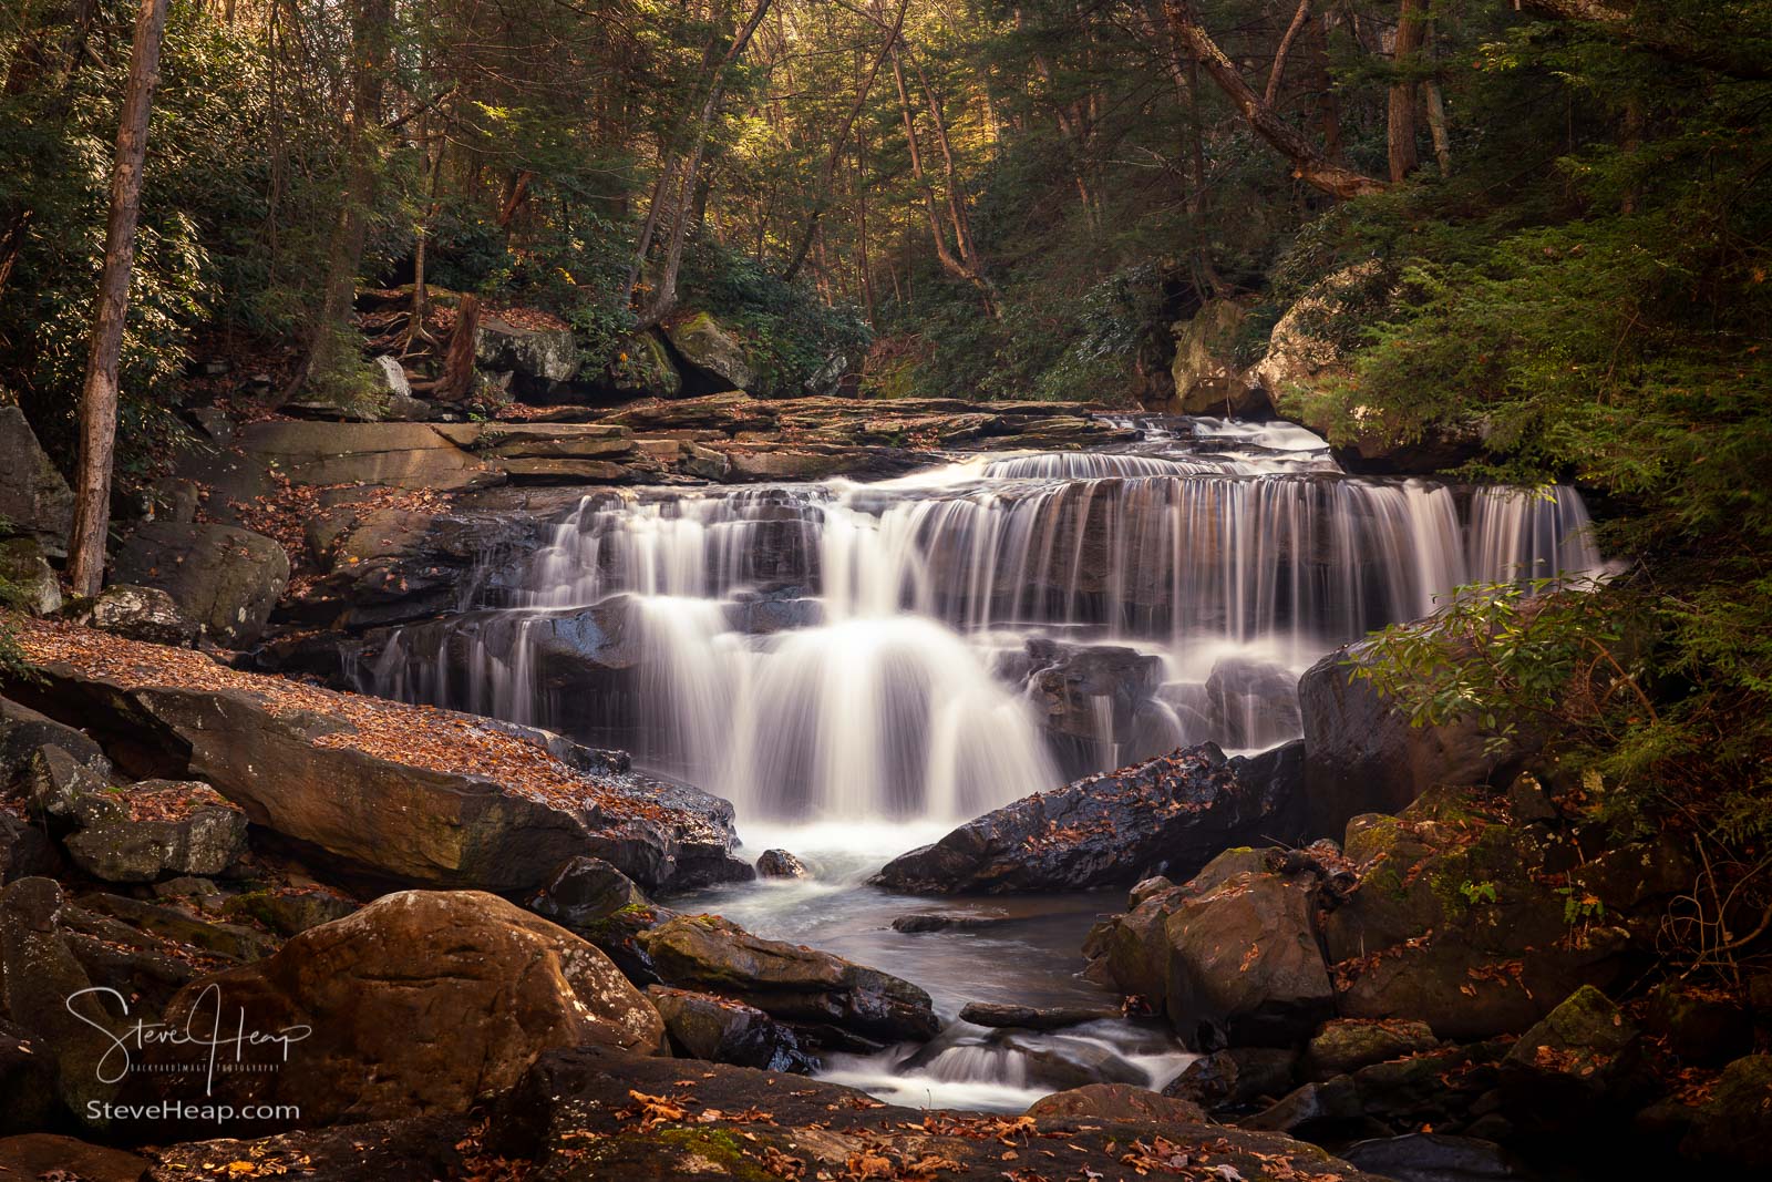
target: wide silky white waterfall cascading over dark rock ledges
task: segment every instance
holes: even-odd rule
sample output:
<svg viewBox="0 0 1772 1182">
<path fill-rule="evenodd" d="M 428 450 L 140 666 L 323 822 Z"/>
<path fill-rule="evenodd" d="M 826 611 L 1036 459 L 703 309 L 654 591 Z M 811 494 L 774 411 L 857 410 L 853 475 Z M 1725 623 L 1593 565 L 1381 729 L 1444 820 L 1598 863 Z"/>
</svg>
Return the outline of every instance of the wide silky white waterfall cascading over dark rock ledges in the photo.
<svg viewBox="0 0 1772 1182">
<path fill-rule="evenodd" d="M 624 746 L 774 820 L 964 819 L 1299 734 L 1320 654 L 1453 587 L 1584 574 L 1581 496 L 1361 480 L 1285 424 L 881 484 L 587 496 L 503 608 L 370 638 L 360 688 Z"/>
</svg>

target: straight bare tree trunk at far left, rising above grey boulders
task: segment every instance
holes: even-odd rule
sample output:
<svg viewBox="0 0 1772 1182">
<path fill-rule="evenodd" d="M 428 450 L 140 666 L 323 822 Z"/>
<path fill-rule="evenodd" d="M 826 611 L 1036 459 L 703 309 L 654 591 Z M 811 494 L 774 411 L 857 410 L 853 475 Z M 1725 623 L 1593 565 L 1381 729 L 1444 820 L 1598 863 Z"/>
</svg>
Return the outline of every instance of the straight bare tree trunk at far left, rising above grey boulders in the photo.
<svg viewBox="0 0 1772 1182">
<path fill-rule="evenodd" d="M 117 365 L 129 314 L 135 271 L 135 229 L 142 213 L 142 163 L 147 117 L 159 82 L 159 43 L 167 32 L 167 0 L 142 0 L 129 46 L 129 82 L 117 121 L 117 163 L 112 170 L 110 220 L 105 225 L 105 269 L 80 390 L 80 473 L 74 532 L 67 544 L 69 581 L 76 595 L 96 595 L 105 581 L 105 535 L 110 532 L 112 457 L 117 450 Z"/>
</svg>

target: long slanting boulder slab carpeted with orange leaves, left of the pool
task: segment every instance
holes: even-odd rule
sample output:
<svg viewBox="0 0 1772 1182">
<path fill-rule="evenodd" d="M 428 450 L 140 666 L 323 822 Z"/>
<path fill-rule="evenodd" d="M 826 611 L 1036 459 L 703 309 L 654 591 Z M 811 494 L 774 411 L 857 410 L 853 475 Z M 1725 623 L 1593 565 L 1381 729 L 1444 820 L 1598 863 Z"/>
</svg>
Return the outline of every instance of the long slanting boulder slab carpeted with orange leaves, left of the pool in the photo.
<svg viewBox="0 0 1772 1182">
<path fill-rule="evenodd" d="M 35 705 L 214 785 L 338 874 L 516 893 L 590 854 L 650 888 L 751 875 L 727 801 L 626 757 L 82 629 L 37 626 L 19 643 L 41 672 L 21 686 Z"/>
</svg>

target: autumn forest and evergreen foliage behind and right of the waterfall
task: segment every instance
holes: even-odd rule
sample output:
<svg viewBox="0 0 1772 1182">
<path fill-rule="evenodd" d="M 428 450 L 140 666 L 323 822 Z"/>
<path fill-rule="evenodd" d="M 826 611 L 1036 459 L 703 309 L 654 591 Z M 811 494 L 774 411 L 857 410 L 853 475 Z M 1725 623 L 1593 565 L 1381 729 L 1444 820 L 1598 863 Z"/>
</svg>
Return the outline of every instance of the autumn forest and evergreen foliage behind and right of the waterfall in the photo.
<svg viewBox="0 0 1772 1182">
<path fill-rule="evenodd" d="M 1731 879 L 1768 865 L 1763 0 L 165 19 L 122 493 L 183 429 L 193 360 L 252 358 L 271 404 L 367 381 L 365 289 L 406 289 L 377 331 L 418 370 L 445 360 L 425 301 L 473 294 L 560 317 L 611 379 L 640 330 L 707 310 L 766 395 L 843 358 L 861 397 L 1125 408 L 1161 400 L 1171 324 L 1209 301 L 1246 308 L 1247 363 L 1327 291 L 1315 331 L 1350 365 L 1285 413 L 1333 441 L 1474 434 L 1464 475 L 1581 484 L 1627 567 L 1575 610 L 1451 622 L 1499 659 L 1393 638 L 1395 689 L 1536 711 L 1623 819 L 1715 835 Z M 0 27 L 0 386 L 69 471 L 135 23 L 9 0 Z M 1577 675 L 1600 688 L 1561 693 Z"/>
</svg>

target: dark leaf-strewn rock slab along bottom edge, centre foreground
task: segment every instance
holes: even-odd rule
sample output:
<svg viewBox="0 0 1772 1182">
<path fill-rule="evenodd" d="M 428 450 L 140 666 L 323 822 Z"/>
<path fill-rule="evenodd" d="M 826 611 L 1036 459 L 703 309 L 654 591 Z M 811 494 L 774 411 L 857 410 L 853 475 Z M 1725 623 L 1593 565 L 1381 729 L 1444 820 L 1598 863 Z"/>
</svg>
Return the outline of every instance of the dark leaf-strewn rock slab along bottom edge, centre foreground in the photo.
<svg viewBox="0 0 1772 1182">
<path fill-rule="evenodd" d="M 594 1173 L 622 1182 L 686 1182 L 734 1177 L 905 1177 L 918 1163 L 943 1161 L 941 1178 L 1001 1182 L 1010 1139 L 1021 1154 L 1040 1154 L 1042 1177 L 1131 1177 L 1127 1157 L 1139 1161 L 1134 1141 L 1152 1145 L 1161 1134 L 1194 1166 L 1226 1166 L 1239 1177 L 1364 1178 L 1311 1145 L 1285 1136 L 1177 1120 L 1161 1097 L 1125 1102 L 1111 1115 L 1072 1115 L 1102 1108 L 1099 1093 L 1056 1102 L 1061 1111 L 1035 1115 L 1033 1131 L 1014 1132 L 1014 1118 L 891 1108 L 851 1088 L 817 1079 L 700 1065 L 693 1086 L 680 1086 L 684 1065 L 643 1060 L 599 1047 L 544 1054 L 493 1113 L 496 1148 L 540 1163 L 539 1177 L 563 1173 L 583 1159 L 587 1134 L 597 1147 Z M 682 1116 L 654 1111 L 647 1118 L 633 1093 L 670 1097 Z M 766 1109 L 766 1118 L 748 1113 Z M 718 1113 L 718 1115 L 716 1115 Z M 817 1125 L 813 1129 L 813 1125 Z M 1022 1125 L 1022 1129 L 1026 1129 Z M 1045 1132 L 1065 1136 L 1044 1138 Z M 1030 1136 L 1024 1143 L 1022 1136 Z M 1166 1170 L 1157 1166 L 1146 1170 Z M 923 1166 L 923 1171 L 932 1171 Z M 911 1173 L 914 1177 L 914 1173 Z M 1216 1175 L 1214 1175 L 1216 1177 Z M 1230 1177 L 1228 1173 L 1223 1177 Z M 1377 1180 L 1373 1180 L 1377 1182 Z"/>
</svg>

